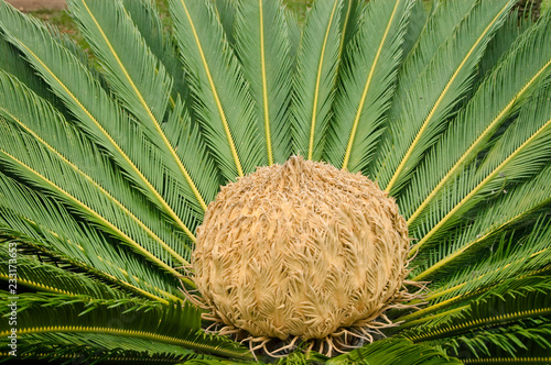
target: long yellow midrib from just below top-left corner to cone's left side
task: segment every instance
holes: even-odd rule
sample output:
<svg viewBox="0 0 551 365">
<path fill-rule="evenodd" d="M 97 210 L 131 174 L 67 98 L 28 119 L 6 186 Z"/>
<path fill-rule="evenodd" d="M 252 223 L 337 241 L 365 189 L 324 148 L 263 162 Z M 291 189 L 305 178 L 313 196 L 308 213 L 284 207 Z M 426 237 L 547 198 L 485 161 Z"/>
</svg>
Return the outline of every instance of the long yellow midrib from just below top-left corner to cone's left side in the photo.
<svg viewBox="0 0 551 365">
<path fill-rule="evenodd" d="M 145 184 L 148 190 L 153 193 L 153 196 L 156 198 L 159 203 L 164 208 L 164 210 L 169 213 L 169 215 L 173 217 L 174 219 L 180 220 L 180 218 L 176 215 L 176 213 L 171 209 L 171 207 L 166 203 L 166 201 L 163 199 L 163 197 L 156 191 L 156 189 L 151 185 L 151 182 L 143 176 L 143 174 L 140 172 L 140 169 L 132 163 L 130 157 L 127 156 L 127 154 L 122 151 L 122 148 L 117 144 L 117 142 L 109 135 L 109 133 L 106 132 L 106 130 L 101 126 L 101 124 L 91 115 L 91 113 L 82 104 L 82 102 L 71 92 L 71 90 L 60 80 L 60 78 L 40 59 L 34 52 L 32 52 L 26 45 L 24 45 L 20 41 L 20 45 L 26 49 L 26 52 L 34 57 L 34 59 L 50 74 L 50 76 L 60 85 L 60 87 L 67 93 L 67 96 L 73 99 L 73 101 L 80 108 L 86 117 L 96 125 L 96 128 L 104 134 L 109 143 L 115 147 L 117 153 L 125 159 L 125 162 L 132 168 L 132 172 L 138 175 L 141 181 Z M 180 221 L 181 222 L 181 221 Z M 192 242 L 195 243 L 195 235 L 193 232 L 185 225 L 183 222 L 181 222 L 182 230 L 185 232 L 185 234 L 192 240 Z"/>
</svg>

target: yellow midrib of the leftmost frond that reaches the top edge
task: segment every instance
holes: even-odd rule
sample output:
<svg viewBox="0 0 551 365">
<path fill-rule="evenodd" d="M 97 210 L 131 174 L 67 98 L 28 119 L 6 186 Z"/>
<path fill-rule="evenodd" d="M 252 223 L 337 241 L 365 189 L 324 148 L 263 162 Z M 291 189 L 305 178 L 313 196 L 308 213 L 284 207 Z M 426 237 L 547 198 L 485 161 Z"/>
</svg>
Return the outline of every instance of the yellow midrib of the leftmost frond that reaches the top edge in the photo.
<svg viewBox="0 0 551 365">
<path fill-rule="evenodd" d="M 185 168 L 185 166 L 182 164 L 182 161 L 180 159 L 180 157 L 177 156 L 176 154 L 176 151 L 172 147 L 172 144 L 170 143 L 170 141 L 166 139 L 166 135 L 164 134 L 163 130 L 161 129 L 161 125 L 159 124 L 159 121 L 156 120 L 155 115 L 153 115 L 153 112 L 151 111 L 151 108 L 149 108 L 149 104 L 147 103 L 147 101 L 143 99 L 143 96 L 141 95 L 140 90 L 138 89 L 138 87 L 136 86 L 136 84 L 133 82 L 132 78 L 130 77 L 130 74 L 128 73 L 127 68 L 125 67 L 125 65 L 122 64 L 122 62 L 120 60 L 117 52 L 115 51 L 115 47 L 111 45 L 111 43 L 109 42 L 109 38 L 106 36 L 104 30 L 101 29 L 101 26 L 99 25 L 99 22 L 96 20 L 96 16 L 94 16 L 94 14 L 91 13 L 90 9 L 88 8 L 88 4 L 86 3 L 86 0 L 82 0 L 83 1 L 83 4 L 84 7 L 86 8 L 86 11 L 88 12 L 88 14 L 90 15 L 91 20 L 94 21 L 94 24 L 96 24 L 96 27 L 98 29 L 99 33 L 101 34 L 101 37 L 104 38 L 105 43 L 107 44 L 107 46 L 109 47 L 109 51 L 111 52 L 112 56 L 115 57 L 115 60 L 117 62 L 117 64 L 119 65 L 119 68 L 121 69 L 122 74 L 125 75 L 125 78 L 128 80 L 128 82 L 130 84 L 130 87 L 132 89 L 132 91 L 134 92 L 134 95 L 138 97 L 142 108 L 145 110 L 148 117 L 151 119 L 151 121 L 153 122 L 153 125 L 155 126 L 155 130 L 156 132 L 159 133 L 159 135 L 161 136 L 161 139 L 163 140 L 163 143 L 164 145 L 166 146 L 166 148 L 169 150 L 172 158 L 176 162 L 176 165 L 179 166 L 180 170 L 182 172 L 182 174 L 184 175 L 185 177 L 185 180 L 187 181 L 187 185 L 190 185 L 190 188 L 192 189 L 193 191 L 193 195 L 195 196 L 195 198 L 197 199 L 197 201 L 199 202 L 201 207 L 203 208 L 203 210 L 205 211 L 207 209 L 207 206 L 205 203 L 205 200 L 203 199 L 203 197 L 201 196 L 201 192 L 198 191 L 197 187 L 195 186 L 195 182 L 193 181 L 192 177 L 190 176 L 187 169 Z M 174 213 L 174 217 L 173 217 L 176 222 L 180 224 L 180 225 L 185 225 L 180 217 L 177 217 L 175 213 Z"/>
</svg>

